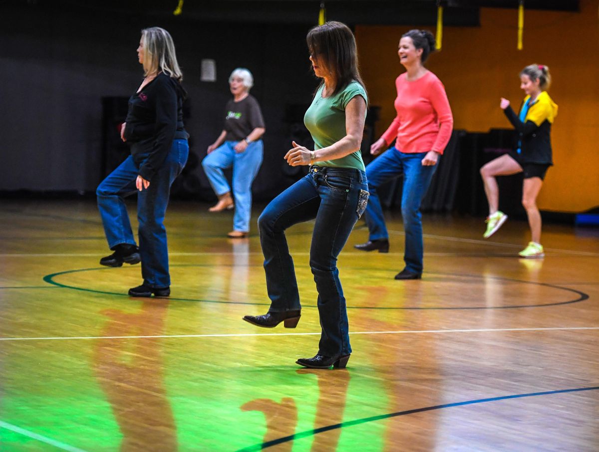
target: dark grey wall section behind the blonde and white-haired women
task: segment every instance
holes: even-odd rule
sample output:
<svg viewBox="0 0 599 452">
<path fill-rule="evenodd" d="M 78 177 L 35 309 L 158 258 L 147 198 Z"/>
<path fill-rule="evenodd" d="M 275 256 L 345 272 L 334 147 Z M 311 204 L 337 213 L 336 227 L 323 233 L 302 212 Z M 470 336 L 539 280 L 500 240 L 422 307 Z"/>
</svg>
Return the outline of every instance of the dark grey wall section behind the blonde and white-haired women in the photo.
<svg viewBox="0 0 599 452">
<path fill-rule="evenodd" d="M 281 177 L 290 141 L 285 111 L 308 104 L 317 83 L 305 47 L 309 23 L 202 23 L 76 5 L 3 3 L 0 190 L 95 190 L 103 176 L 101 98 L 128 97 L 139 86 L 135 49 L 148 26 L 173 35 L 189 92 L 186 127 L 198 159 L 222 130 L 229 74 L 244 66 L 255 77 L 251 92 L 267 124 L 255 187 L 268 192 L 288 183 Z M 215 83 L 200 81 L 202 58 L 216 60 Z M 201 167 L 192 171 L 202 193 L 210 192 Z"/>
</svg>

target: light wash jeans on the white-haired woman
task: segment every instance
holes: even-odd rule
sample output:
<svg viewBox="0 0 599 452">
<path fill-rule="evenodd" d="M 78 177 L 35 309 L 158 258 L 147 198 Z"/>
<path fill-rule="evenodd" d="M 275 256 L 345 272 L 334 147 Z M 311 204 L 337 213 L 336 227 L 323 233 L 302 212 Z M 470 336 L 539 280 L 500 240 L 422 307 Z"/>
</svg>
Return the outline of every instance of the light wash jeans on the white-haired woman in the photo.
<svg viewBox="0 0 599 452">
<path fill-rule="evenodd" d="M 237 153 L 233 148 L 237 143 L 238 141 L 225 141 L 204 157 L 202 167 L 217 196 L 231 192 L 223 169 L 233 168 L 232 195 L 235 201 L 233 229 L 249 232 L 252 216 L 252 182 L 262 165 L 264 145 L 262 140 L 258 139 L 247 145 L 245 151 Z"/>
</svg>

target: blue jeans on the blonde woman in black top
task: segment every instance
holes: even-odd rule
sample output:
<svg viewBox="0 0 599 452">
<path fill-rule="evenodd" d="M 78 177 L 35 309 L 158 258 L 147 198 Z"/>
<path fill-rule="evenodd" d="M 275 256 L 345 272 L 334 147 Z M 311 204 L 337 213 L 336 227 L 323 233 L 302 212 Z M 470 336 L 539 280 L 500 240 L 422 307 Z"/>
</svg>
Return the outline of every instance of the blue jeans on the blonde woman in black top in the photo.
<svg viewBox="0 0 599 452">
<path fill-rule="evenodd" d="M 144 283 L 150 287 L 161 288 L 171 285 L 164 216 L 171 185 L 183 171 L 188 154 L 187 140 L 174 140 L 167 158 L 152 177 L 150 186 L 141 192 L 135 188 L 139 166 L 135 164 L 133 157 L 129 156 L 99 184 L 96 190 L 104 232 L 111 249 L 122 243 L 135 245 L 123 198 L 137 192 L 141 276 L 144 278 Z"/>
</svg>

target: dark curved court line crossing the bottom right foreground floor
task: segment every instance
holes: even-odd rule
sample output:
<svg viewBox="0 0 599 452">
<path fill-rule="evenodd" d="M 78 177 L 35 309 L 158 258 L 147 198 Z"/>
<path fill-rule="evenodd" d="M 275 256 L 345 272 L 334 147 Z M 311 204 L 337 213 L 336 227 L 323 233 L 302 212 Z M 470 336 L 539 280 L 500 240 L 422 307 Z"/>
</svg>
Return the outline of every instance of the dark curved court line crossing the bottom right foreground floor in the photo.
<svg viewBox="0 0 599 452">
<path fill-rule="evenodd" d="M 307 438 L 308 436 L 314 436 L 318 433 L 329 432 L 330 430 L 341 429 L 343 427 L 352 427 L 359 424 L 365 424 L 368 422 L 380 421 L 383 419 L 389 419 L 392 417 L 405 416 L 408 414 L 415 414 L 417 412 L 423 411 L 433 411 L 435 409 L 443 409 L 443 408 L 452 408 L 452 407 L 462 407 L 464 405 L 474 405 L 474 404 L 483 404 L 485 402 L 497 402 L 509 399 L 519 399 L 524 397 L 533 397 L 533 396 L 546 396 L 553 394 L 564 394 L 570 392 L 580 392 L 580 391 L 593 391 L 599 389 L 599 386 L 591 386 L 585 388 L 576 388 L 576 389 L 560 389 L 556 391 L 545 391 L 545 392 L 533 392 L 528 394 L 516 394 L 512 396 L 501 396 L 501 397 L 492 397 L 489 399 L 476 399 L 465 402 L 455 402 L 453 404 L 444 404 L 444 405 L 434 405 L 433 407 L 424 407 L 424 408 L 415 408 L 415 409 L 407 409 L 406 411 L 398 411 L 392 412 L 389 414 L 380 414 L 377 416 L 364 417 L 361 419 L 355 419 L 353 421 L 342 422 L 340 424 L 333 424 L 326 427 L 320 427 L 319 429 L 313 430 L 305 430 L 304 432 L 295 433 L 295 435 L 284 436 L 283 438 L 273 439 L 272 441 L 262 442 L 260 444 L 253 444 L 249 447 L 244 447 L 243 449 L 239 449 L 236 452 L 252 452 L 256 450 L 262 450 L 267 447 L 271 447 L 277 444 L 282 444 L 283 442 L 294 441 L 295 439 Z"/>
</svg>

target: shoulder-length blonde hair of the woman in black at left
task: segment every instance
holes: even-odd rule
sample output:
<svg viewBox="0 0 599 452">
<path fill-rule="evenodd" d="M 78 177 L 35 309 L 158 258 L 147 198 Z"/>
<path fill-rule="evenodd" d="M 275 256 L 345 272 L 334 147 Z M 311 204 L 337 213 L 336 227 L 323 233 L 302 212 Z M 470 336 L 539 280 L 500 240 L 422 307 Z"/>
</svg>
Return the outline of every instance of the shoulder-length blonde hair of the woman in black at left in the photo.
<svg viewBox="0 0 599 452">
<path fill-rule="evenodd" d="M 177 63 L 175 44 L 168 31 L 160 27 L 145 28 L 141 31 L 141 44 L 144 53 L 144 75 L 162 71 L 181 82 L 183 73 Z"/>
</svg>

